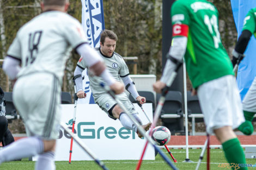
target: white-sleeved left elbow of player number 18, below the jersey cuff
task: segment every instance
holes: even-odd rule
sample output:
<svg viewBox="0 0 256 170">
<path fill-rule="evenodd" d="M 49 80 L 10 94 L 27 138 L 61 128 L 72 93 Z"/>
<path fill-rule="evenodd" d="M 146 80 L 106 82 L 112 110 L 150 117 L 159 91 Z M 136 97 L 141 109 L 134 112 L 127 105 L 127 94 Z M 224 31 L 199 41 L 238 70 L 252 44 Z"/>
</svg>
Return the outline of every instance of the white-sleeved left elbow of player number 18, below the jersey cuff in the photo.
<svg viewBox="0 0 256 170">
<path fill-rule="evenodd" d="M 17 74 L 20 72 L 21 60 L 6 56 L 3 63 L 3 70 L 11 80 L 16 79 Z"/>
</svg>

